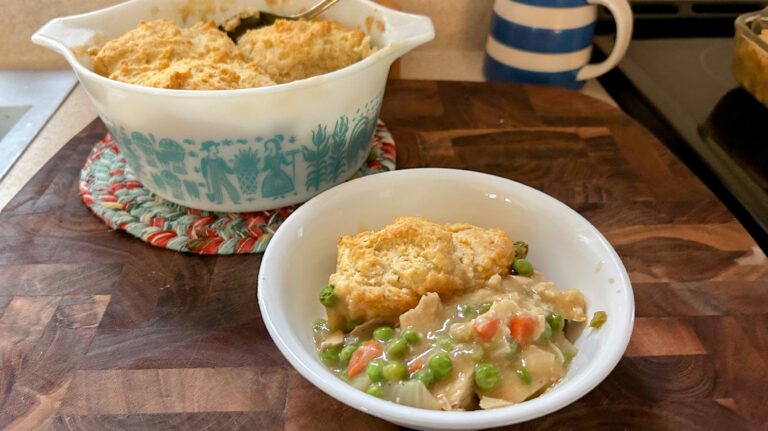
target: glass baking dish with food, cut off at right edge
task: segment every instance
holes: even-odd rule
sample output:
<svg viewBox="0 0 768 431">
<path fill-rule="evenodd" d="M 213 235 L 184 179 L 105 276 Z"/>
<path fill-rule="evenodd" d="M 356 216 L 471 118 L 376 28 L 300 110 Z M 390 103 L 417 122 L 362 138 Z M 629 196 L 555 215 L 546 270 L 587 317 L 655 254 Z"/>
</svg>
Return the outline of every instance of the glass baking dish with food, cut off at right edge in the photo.
<svg viewBox="0 0 768 431">
<path fill-rule="evenodd" d="M 768 107 L 768 8 L 736 18 L 733 76 Z"/>
</svg>

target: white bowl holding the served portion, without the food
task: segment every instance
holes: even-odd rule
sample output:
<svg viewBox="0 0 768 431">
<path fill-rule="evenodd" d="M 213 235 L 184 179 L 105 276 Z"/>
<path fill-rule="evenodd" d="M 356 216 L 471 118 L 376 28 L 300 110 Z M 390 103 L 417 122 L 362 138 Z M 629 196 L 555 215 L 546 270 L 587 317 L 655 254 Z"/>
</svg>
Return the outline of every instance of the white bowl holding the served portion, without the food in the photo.
<svg viewBox="0 0 768 431">
<path fill-rule="evenodd" d="M 567 376 L 524 403 L 487 411 L 438 412 L 366 395 L 318 360 L 312 323 L 324 317 L 317 295 L 335 269 L 339 234 L 379 229 L 402 215 L 440 223 L 499 227 L 530 246 L 529 258 L 560 288 L 578 288 L 589 315 L 608 313 L 585 329 Z M 626 349 L 634 321 L 629 277 L 608 241 L 554 198 L 507 179 L 451 169 L 411 169 L 334 187 L 294 212 L 272 238 L 259 274 L 259 305 L 273 340 L 315 386 L 363 412 L 420 429 L 481 429 L 533 419 L 562 408 L 597 386 Z"/>
</svg>

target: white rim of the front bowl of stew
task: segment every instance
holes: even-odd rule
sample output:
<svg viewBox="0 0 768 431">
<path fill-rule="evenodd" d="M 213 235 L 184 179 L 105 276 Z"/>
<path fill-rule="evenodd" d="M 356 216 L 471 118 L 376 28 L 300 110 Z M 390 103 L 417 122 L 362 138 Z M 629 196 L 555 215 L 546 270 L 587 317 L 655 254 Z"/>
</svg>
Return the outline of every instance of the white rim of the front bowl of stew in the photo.
<svg viewBox="0 0 768 431">
<path fill-rule="evenodd" d="M 603 352 L 605 354 L 605 356 L 603 356 L 604 365 L 601 368 L 590 369 L 587 367 L 584 372 L 576 375 L 567 385 L 558 386 L 553 391 L 547 392 L 538 398 L 513 406 L 492 410 L 446 412 L 403 406 L 366 395 L 348 383 L 338 379 L 328 371 L 316 357 L 297 354 L 288 347 L 286 337 L 275 324 L 276 322 L 280 323 L 280 321 L 286 320 L 285 316 L 272 313 L 269 307 L 267 307 L 267 304 L 270 303 L 272 298 L 276 295 L 277 290 L 263 288 L 263 286 L 269 283 L 269 275 L 264 269 L 274 265 L 273 260 L 276 259 L 282 251 L 283 237 L 289 235 L 289 232 L 293 231 L 294 225 L 302 223 L 302 220 L 305 217 L 304 214 L 311 214 L 317 208 L 322 207 L 326 201 L 336 194 L 345 193 L 357 188 L 365 188 L 371 184 L 376 184 L 377 182 L 386 183 L 390 181 L 392 177 L 412 177 L 429 179 L 430 181 L 439 181 L 441 177 L 445 178 L 446 176 L 467 182 L 485 182 L 498 186 L 513 185 L 513 187 L 522 187 L 529 193 L 532 192 L 535 195 L 539 195 L 541 199 L 549 201 L 550 204 L 559 206 L 563 211 L 570 213 L 571 216 L 575 217 L 584 228 L 594 234 L 600 241 L 600 244 L 608 251 L 608 254 L 612 258 L 611 263 L 614 263 L 616 269 L 618 269 L 616 285 L 624 287 L 622 302 L 627 305 L 629 311 L 624 319 L 617 321 L 614 318 L 611 320 L 613 325 L 620 326 L 615 332 L 618 335 L 608 340 L 608 345 L 611 346 L 611 348 L 609 351 Z M 313 385 L 326 394 L 352 408 L 385 420 L 422 428 L 482 429 L 511 425 L 535 419 L 568 406 L 594 389 L 616 367 L 629 344 L 635 316 L 632 285 L 629 276 L 627 275 L 627 271 L 624 268 L 624 264 L 608 240 L 587 219 L 559 200 L 544 192 L 536 190 L 533 187 L 494 175 L 459 169 L 417 168 L 391 171 L 349 181 L 315 196 L 288 217 L 281 228 L 278 229 L 275 236 L 271 239 L 261 261 L 258 283 L 257 296 L 259 300 L 259 308 L 267 330 L 280 352 L 286 357 L 288 362 L 302 376 L 304 376 L 304 378 L 309 380 Z M 298 340 L 295 341 L 298 343 Z"/>
</svg>

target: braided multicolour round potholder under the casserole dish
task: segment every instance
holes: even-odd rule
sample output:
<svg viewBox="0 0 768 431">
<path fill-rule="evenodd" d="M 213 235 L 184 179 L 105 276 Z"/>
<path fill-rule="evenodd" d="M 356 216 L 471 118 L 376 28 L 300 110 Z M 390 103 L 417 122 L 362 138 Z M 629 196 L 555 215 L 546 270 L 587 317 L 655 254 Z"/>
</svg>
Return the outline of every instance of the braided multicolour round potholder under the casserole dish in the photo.
<svg viewBox="0 0 768 431">
<path fill-rule="evenodd" d="M 379 120 L 368 159 L 353 178 L 394 169 L 395 141 Z M 299 207 L 220 213 L 169 202 L 126 169 L 109 134 L 96 143 L 80 172 L 80 197 L 112 229 L 156 247 L 210 255 L 263 252 L 283 220 Z"/>
</svg>

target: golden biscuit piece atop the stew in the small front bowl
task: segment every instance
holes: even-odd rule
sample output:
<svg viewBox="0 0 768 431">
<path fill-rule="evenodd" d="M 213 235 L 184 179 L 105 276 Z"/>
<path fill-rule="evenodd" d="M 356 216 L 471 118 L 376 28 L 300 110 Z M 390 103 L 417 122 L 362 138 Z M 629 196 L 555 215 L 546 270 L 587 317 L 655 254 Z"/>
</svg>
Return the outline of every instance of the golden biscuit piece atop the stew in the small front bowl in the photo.
<svg viewBox="0 0 768 431">
<path fill-rule="evenodd" d="M 512 240 L 499 229 L 441 226 L 419 217 L 400 217 L 377 232 L 342 235 L 336 272 L 337 304 L 329 322 L 381 318 L 395 322 L 419 299 L 436 292 L 445 300 L 477 289 L 494 274 L 507 274 Z"/>
</svg>

